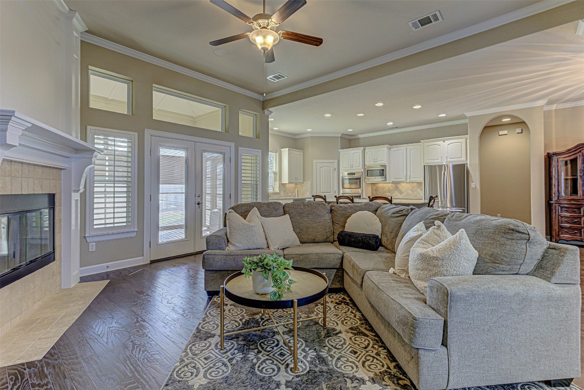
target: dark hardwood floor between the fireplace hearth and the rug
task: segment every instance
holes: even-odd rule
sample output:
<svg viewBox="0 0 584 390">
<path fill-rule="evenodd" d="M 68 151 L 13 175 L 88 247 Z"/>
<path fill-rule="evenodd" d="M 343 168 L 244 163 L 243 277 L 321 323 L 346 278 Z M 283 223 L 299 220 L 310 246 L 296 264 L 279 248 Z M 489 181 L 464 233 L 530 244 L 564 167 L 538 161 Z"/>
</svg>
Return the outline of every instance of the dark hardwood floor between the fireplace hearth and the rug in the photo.
<svg viewBox="0 0 584 390">
<path fill-rule="evenodd" d="M 583 249 L 580 263 L 584 289 Z M 0 390 L 161 388 L 208 305 L 201 255 L 82 281 L 104 279 L 111 281 L 45 357 L 0 368 Z"/>
</svg>

